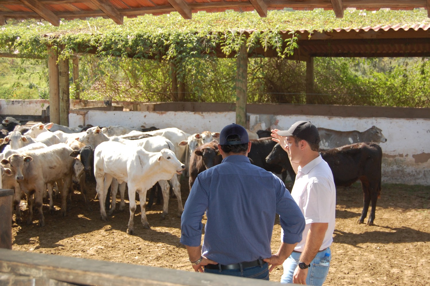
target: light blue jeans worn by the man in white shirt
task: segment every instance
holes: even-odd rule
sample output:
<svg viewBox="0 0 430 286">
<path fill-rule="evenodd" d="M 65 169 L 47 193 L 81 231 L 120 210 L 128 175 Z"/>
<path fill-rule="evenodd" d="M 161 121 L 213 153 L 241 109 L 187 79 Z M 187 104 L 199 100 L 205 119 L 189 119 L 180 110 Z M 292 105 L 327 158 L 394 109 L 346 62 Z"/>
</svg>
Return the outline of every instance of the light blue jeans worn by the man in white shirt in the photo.
<svg viewBox="0 0 430 286">
<path fill-rule="evenodd" d="M 310 268 L 307 272 L 306 284 L 307 285 L 322 285 L 326 281 L 327 274 L 329 274 L 329 265 L 321 265 L 319 261 L 326 253 L 330 253 L 330 261 L 332 261 L 332 252 L 330 247 L 326 250 L 320 251 L 315 255 L 315 258 L 310 262 Z M 284 263 L 284 274 L 281 276 L 281 283 L 293 283 L 293 274 L 298 265 L 301 252 L 292 252 L 289 258 Z"/>
</svg>

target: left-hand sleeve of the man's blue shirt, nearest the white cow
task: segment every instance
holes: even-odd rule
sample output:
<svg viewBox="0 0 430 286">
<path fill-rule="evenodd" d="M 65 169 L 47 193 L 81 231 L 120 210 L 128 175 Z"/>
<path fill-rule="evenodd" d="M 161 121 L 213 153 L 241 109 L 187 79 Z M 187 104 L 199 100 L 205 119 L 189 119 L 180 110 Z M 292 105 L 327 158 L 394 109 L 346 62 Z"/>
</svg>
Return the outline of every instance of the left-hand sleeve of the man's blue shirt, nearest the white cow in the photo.
<svg viewBox="0 0 430 286">
<path fill-rule="evenodd" d="M 200 246 L 202 240 L 202 216 L 209 203 L 209 196 L 197 176 L 181 216 L 181 240 L 187 246 Z"/>
</svg>

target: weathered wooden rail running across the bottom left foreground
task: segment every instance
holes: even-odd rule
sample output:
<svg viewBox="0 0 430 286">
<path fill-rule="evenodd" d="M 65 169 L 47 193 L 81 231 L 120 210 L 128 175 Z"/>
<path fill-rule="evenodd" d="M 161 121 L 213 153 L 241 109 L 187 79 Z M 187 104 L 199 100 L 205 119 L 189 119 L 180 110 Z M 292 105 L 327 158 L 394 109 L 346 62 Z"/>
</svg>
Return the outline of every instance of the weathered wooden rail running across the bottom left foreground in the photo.
<svg viewBox="0 0 430 286">
<path fill-rule="evenodd" d="M 257 286 L 273 283 L 226 275 L 0 249 L 0 285 Z"/>
</svg>

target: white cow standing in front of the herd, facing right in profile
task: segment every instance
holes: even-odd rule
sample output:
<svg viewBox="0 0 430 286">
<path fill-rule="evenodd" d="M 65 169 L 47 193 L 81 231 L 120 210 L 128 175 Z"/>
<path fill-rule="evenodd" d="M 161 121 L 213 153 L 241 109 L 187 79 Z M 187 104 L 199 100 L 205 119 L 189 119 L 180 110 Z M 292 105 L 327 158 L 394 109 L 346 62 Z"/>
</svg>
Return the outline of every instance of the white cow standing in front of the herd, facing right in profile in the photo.
<svg viewBox="0 0 430 286">
<path fill-rule="evenodd" d="M 133 234 L 134 231 L 136 192 L 140 199 L 142 224 L 144 228 L 149 228 L 145 213 L 147 190 L 157 181 L 169 180 L 175 173 L 181 174 L 184 169 L 184 164 L 179 162 L 175 153 L 169 149 L 163 149 L 161 152 L 147 152 L 141 147 L 115 141 L 100 143 L 94 151 L 94 175 L 101 219 L 107 220 L 104 203 L 112 178 L 116 178 L 120 183 L 126 182 L 128 185 L 130 218 L 127 233 Z"/>
</svg>

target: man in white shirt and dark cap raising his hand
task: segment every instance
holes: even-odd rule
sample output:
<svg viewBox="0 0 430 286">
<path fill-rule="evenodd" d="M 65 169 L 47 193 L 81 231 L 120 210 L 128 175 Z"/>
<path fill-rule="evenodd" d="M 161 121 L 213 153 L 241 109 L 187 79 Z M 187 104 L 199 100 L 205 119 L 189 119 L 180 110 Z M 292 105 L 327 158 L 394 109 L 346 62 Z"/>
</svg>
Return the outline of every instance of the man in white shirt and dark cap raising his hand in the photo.
<svg viewBox="0 0 430 286">
<path fill-rule="evenodd" d="M 302 240 L 283 263 L 281 283 L 322 285 L 329 265 L 319 261 L 326 253 L 331 260 L 335 230 L 336 188 L 332 170 L 318 152 L 320 138 L 312 123 L 298 121 L 288 130 L 274 129 L 272 137 L 287 152 L 297 174 L 291 195 L 306 222 Z"/>
</svg>

